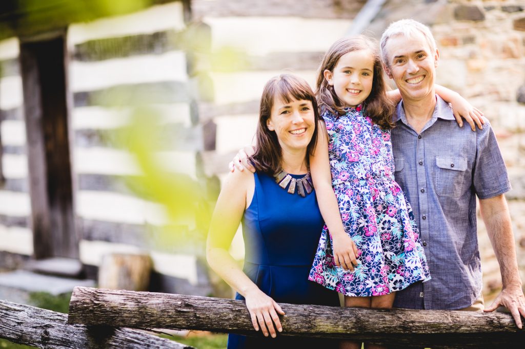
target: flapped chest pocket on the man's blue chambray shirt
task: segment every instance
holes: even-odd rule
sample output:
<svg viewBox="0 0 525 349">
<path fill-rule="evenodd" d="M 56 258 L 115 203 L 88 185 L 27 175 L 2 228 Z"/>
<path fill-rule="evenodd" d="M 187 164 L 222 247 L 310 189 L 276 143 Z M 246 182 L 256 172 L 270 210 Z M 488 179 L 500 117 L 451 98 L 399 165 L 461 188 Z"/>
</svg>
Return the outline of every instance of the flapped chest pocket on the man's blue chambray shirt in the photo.
<svg viewBox="0 0 525 349">
<path fill-rule="evenodd" d="M 436 192 L 442 197 L 458 198 L 465 181 L 467 159 L 436 156 Z"/>
</svg>

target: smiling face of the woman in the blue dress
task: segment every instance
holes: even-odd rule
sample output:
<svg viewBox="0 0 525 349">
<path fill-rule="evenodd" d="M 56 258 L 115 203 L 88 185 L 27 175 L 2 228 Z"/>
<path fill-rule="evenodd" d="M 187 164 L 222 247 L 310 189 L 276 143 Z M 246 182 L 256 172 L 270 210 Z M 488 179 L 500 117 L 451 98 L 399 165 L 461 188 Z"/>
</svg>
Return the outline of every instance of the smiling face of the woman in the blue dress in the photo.
<svg viewBox="0 0 525 349">
<path fill-rule="evenodd" d="M 292 98 L 287 103 L 276 98 L 266 125 L 275 131 L 283 151 L 306 151 L 315 130 L 312 102 Z"/>
</svg>

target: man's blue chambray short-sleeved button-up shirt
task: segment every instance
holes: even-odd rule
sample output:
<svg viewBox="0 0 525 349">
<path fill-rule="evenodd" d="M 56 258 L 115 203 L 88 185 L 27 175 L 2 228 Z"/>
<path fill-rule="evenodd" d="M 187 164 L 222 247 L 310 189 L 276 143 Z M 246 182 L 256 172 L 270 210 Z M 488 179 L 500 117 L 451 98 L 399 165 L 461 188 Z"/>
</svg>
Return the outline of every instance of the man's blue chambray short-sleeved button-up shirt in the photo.
<svg viewBox="0 0 525 349">
<path fill-rule="evenodd" d="M 397 105 L 392 129 L 395 179 L 412 205 L 430 276 L 398 291 L 394 307 L 461 309 L 481 295 L 476 195 L 510 190 L 492 127 L 459 127 L 439 96 L 432 119 L 417 134 Z"/>
</svg>

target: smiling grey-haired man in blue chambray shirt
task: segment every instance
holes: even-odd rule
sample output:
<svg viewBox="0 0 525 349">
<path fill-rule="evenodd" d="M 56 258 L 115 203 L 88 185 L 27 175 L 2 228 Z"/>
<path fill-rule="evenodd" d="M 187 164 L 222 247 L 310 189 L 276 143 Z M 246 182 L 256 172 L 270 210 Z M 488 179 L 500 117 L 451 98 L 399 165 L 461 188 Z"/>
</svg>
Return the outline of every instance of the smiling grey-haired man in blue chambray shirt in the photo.
<svg viewBox="0 0 525 349">
<path fill-rule="evenodd" d="M 439 52 L 417 21 L 392 23 L 381 38 L 386 74 L 399 89 L 392 130 L 395 178 L 412 205 L 432 279 L 398 291 L 394 307 L 480 311 L 481 265 L 476 195 L 498 259 L 503 288 L 486 312 L 507 307 L 518 328 L 525 298 L 507 202 L 505 163 L 488 121 L 471 132 L 458 127 L 435 93 Z"/>
</svg>

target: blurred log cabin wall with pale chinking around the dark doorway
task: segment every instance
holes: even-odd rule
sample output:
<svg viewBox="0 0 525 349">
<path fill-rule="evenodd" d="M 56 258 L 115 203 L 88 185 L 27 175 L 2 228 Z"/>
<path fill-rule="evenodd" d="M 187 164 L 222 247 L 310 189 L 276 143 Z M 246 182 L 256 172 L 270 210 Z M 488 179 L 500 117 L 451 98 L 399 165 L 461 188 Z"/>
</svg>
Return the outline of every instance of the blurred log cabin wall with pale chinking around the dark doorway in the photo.
<svg viewBox="0 0 525 349">
<path fill-rule="evenodd" d="M 133 99 L 149 94 L 165 127 L 180 138 L 163 151 L 163 161 L 177 163 L 185 175 L 197 178 L 197 157 L 204 145 L 196 103 L 187 92 L 193 80 L 181 48 L 187 20 L 187 2 L 174 1 L 68 27 L 77 256 L 88 276 L 95 277 L 106 253 L 146 252 L 154 265 L 152 289 L 207 295 L 206 269 L 197 254 L 155 240 L 159 227 L 166 224 L 164 210 L 139 198 L 125 185 L 126 178 L 140 176 L 140 169 L 133 156 L 114 143 L 128 123 Z M 22 266 L 30 256 L 38 255 L 30 224 L 29 147 L 19 45 L 16 38 L 0 41 L 2 161 L 6 176 L 0 190 L 0 261 L 6 267 Z M 22 43 L 23 48 L 34 45 Z M 108 95 L 131 98 L 111 101 L 104 98 Z M 64 182 L 52 173 L 50 178 Z M 190 220 L 181 229 L 191 232 L 197 229 L 197 223 Z M 37 246 L 51 255 L 60 255 L 53 253 L 55 243 L 49 242 L 47 247 L 44 243 Z"/>
</svg>

